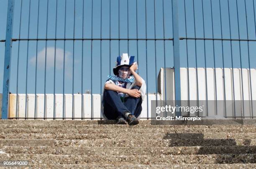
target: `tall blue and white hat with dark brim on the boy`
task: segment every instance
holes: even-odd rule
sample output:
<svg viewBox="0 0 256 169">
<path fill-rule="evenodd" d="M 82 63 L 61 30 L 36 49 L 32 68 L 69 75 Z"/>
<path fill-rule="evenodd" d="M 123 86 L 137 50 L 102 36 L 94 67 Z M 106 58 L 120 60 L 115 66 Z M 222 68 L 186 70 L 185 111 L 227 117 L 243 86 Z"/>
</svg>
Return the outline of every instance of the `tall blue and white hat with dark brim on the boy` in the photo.
<svg viewBox="0 0 256 169">
<path fill-rule="evenodd" d="M 134 63 L 135 56 L 128 56 L 128 53 L 123 53 L 121 56 L 118 56 L 116 59 L 116 66 L 113 68 L 115 75 L 118 75 L 118 69 L 122 66 L 131 67 Z M 132 75 L 132 74 L 131 74 Z"/>
</svg>

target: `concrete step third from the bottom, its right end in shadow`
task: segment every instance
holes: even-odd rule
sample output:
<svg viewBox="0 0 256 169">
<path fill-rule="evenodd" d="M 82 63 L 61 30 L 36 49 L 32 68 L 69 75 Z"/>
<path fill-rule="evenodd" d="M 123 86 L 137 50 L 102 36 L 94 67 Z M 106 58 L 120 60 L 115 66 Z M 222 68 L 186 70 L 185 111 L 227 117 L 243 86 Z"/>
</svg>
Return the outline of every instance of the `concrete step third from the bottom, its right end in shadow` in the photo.
<svg viewBox="0 0 256 169">
<path fill-rule="evenodd" d="M 67 155 L 187 155 L 187 154 L 253 154 L 256 146 L 180 146 L 180 147 L 46 147 L 3 146 L 7 154 L 67 154 Z"/>
</svg>

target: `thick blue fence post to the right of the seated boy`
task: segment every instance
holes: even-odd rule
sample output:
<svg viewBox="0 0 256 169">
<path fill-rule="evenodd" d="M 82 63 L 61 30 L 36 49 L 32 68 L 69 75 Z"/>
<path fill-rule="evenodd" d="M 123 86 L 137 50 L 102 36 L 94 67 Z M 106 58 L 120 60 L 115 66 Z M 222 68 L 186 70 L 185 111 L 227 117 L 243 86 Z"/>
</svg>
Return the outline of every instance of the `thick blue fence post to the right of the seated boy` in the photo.
<svg viewBox="0 0 256 169">
<path fill-rule="evenodd" d="M 172 0 L 172 25 L 174 45 L 175 106 L 181 106 L 178 0 Z M 181 116 L 181 112 L 176 111 L 175 116 Z"/>
</svg>

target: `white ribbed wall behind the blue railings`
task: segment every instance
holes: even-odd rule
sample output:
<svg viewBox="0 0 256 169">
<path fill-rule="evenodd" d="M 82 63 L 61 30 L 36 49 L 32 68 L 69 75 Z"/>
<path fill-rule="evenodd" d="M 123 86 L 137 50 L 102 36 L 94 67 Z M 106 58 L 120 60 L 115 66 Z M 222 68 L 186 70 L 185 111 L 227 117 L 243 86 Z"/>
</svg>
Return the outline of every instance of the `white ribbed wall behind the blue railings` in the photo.
<svg viewBox="0 0 256 169">
<path fill-rule="evenodd" d="M 164 74 L 166 72 L 166 75 Z M 158 94 L 148 93 L 148 98 L 145 96 L 142 103 L 141 118 L 151 117 L 151 101 L 165 100 L 166 89 L 166 99 L 174 100 L 174 69 L 166 68 L 160 69 L 158 76 Z M 203 115 L 208 114 L 208 116 L 251 116 L 252 114 L 256 116 L 256 69 L 251 69 L 251 83 L 250 83 L 250 71 L 248 69 L 225 68 L 224 74 L 222 68 L 181 68 L 181 98 L 182 100 L 188 100 L 188 95 L 190 101 L 199 99 L 200 101 L 208 100 L 208 107 L 205 105 Z M 216 76 L 215 76 L 216 72 Z M 207 76 L 205 76 L 205 73 Z M 198 74 L 198 76 L 197 76 Z M 189 83 L 188 83 L 189 75 Z M 242 88 L 242 76 L 243 75 L 243 88 Z M 166 77 L 166 79 L 164 78 Z M 216 78 L 216 79 L 215 79 Z M 225 81 L 224 81 L 225 79 Z M 166 86 L 164 81 L 166 80 Z M 197 84 L 198 81 L 198 84 Z M 216 83 L 215 83 L 216 81 Z M 234 81 L 234 83 L 233 83 Z M 206 83 L 207 82 L 207 83 Z M 197 88 L 198 85 L 198 88 Z M 216 85 L 216 89 L 215 89 Z M 224 89 L 225 85 L 225 89 Z M 198 96 L 197 96 L 198 90 Z M 189 94 L 188 94 L 189 92 Z M 252 93 L 250 93 L 252 92 Z M 218 101 L 213 104 L 217 95 Z M 35 95 L 28 94 L 27 99 L 25 94 L 10 94 L 10 104 L 9 111 L 10 117 L 16 116 L 16 99 L 17 100 L 17 112 L 18 117 L 25 117 L 25 106 L 27 101 L 27 117 L 34 117 L 35 112 Z M 45 113 L 47 118 L 53 118 L 54 108 L 56 110 L 56 117 L 63 118 L 63 107 L 64 107 L 64 117 L 72 118 L 72 111 L 74 111 L 74 117 L 80 118 L 82 114 L 85 118 L 91 118 L 91 113 L 93 117 L 100 119 L 100 108 L 101 108 L 101 97 L 100 94 L 83 94 L 83 109 L 82 109 L 82 95 L 81 94 L 64 94 L 64 106 L 63 106 L 63 95 L 56 94 L 56 103 L 54 105 L 54 95 L 53 94 L 36 94 L 36 116 L 39 118 L 44 117 L 44 97 L 46 97 L 45 102 Z M 251 106 L 251 97 L 253 101 L 253 112 Z M 207 98 L 207 99 L 206 99 Z M 232 104 L 232 100 L 236 100 L 235 104 Z M 74 99 L 74 107 L 72 110 L 72 99 Z M 91 100 L 92 99 L 92 100 Z M 244 99 L 244 103 L 243 100 Z M 249 100 L 249 101 L 248 101 Z M 148 103 L 147 103 L 148 101 Z M 211 102 L 211 103 L 210 103 Z M 243 107 L 244 104 L 244 107 Z M 148 107 L 147 107 L 148 105 Z M 185 103 L 184 106 L 188 105 Z M 217 107 L 216 107 L 217 105 Z M 2 107 L 2 94 L 0 94 L 0 108 Z M 207 112 L 208 109 L 208 112 Z M 1 109 L 0 109 L 1 110 Z M 147 115 L 148 113 L 148 115 Z"/>
</svg>

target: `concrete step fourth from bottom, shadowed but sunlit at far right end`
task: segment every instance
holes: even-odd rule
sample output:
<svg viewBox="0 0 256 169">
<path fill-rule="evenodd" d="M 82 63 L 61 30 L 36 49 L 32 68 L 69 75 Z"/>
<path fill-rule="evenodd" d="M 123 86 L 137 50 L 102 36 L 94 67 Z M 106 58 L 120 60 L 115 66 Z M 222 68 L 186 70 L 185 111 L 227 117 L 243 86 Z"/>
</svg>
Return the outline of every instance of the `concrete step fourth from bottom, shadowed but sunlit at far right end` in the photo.
<svg viewBox="0 0 256 169">
<path fill-rule="evenodd" d="M 172 146 L 256 146 L 256 139 L 0 139 L 0 146 L 100 146 L 100 147 L 172 147 Z"/>
</svg>

